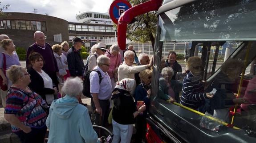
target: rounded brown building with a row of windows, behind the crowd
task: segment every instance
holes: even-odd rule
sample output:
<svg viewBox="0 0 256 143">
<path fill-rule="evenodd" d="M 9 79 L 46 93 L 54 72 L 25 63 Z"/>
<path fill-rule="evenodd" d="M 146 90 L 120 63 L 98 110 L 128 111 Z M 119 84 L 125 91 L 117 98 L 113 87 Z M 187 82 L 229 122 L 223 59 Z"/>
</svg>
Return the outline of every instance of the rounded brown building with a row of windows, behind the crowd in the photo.
<svg viewBox="0 0 256 143">
<path fill-rule="evenodd" d="M 68 21 L 49 15 L 6 12 L 0 16 L 0 34 L 8 35 L 17 47 L 23 48 L 35 42 L 35 31 L 44 32 L 51 45 L 68 41 L 68 25 Z"/>
</svg>

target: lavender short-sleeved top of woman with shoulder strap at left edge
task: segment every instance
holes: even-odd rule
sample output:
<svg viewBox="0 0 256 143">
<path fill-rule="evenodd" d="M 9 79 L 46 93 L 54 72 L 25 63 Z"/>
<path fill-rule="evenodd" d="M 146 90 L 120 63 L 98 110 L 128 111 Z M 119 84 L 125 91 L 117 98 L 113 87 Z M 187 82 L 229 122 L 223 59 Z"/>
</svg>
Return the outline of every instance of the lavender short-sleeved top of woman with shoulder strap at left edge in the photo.
<svg viewBox="0 0 256 143">
<path fill-rule="evenodd" d="M 8 54 L 4 54 L 6 58 L 6 69 L 9 69 L 12 65 L 20 66 L 19 57 L 17 54 L 13 54 L 12 56 Z M 4 66 L 4 57 L 3 54 L 0 53 L 0 68 L 3 69 Z"/>
</svg>

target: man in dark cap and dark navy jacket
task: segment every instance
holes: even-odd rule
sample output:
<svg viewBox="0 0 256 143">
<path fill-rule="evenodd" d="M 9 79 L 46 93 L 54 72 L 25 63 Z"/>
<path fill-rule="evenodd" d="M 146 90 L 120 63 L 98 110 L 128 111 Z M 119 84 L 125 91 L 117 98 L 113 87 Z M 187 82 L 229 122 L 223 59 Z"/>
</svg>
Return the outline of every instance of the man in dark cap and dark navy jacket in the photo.
<svg viewBox="0 0 256 143">
<path fill-rule="evenodd" d="M 73 46 L 68 51 L 67 61 L 71 77 L 82 77 L 84 67 L 84 62 L 80 55 L 82 44 L 84 42 L 80 38 L 75 37 L 73 39 Z"/>
</svg>

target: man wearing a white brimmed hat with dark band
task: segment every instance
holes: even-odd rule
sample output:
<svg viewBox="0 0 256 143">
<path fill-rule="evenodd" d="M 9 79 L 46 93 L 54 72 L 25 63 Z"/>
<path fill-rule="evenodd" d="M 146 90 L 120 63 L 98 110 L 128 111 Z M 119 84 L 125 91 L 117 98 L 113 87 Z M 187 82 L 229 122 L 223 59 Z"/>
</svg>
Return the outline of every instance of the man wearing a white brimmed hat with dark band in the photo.
<svg viewBox="0 0 256 143">
<path fill-rule="evenodd" d="M 88 70 L 93 70 L 93 68 L 95 66 L 97 66 L 97 58 L 102 55 L 102 54 L 105 54 L 107 51 L 107 48 L 106 48 L 106 44 L 105 43 L 98 43 L 97 44 L 97 49 L 96 49 L 96 52 L 93 53 L 90 58 L 89 58 L 89 61 L 88 61 Z"/>
</svg>

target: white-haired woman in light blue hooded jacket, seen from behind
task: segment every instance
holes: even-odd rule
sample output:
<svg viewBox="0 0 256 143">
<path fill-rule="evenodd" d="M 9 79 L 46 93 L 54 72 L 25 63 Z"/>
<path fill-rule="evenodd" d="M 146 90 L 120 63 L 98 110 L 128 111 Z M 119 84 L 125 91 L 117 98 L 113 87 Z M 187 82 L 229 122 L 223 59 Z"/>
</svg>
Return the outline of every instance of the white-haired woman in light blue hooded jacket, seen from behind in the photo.
<svg viewBox="0 0 256 143">
<path fill-rule="evenodd" d="M 78 103 L 83 90 L 81 78 L 68 78 L 62 90 L 66 96 L 53 101 L 46 120 L 48 143 L 97 143 L 88 109 Z"/>
</svg>

